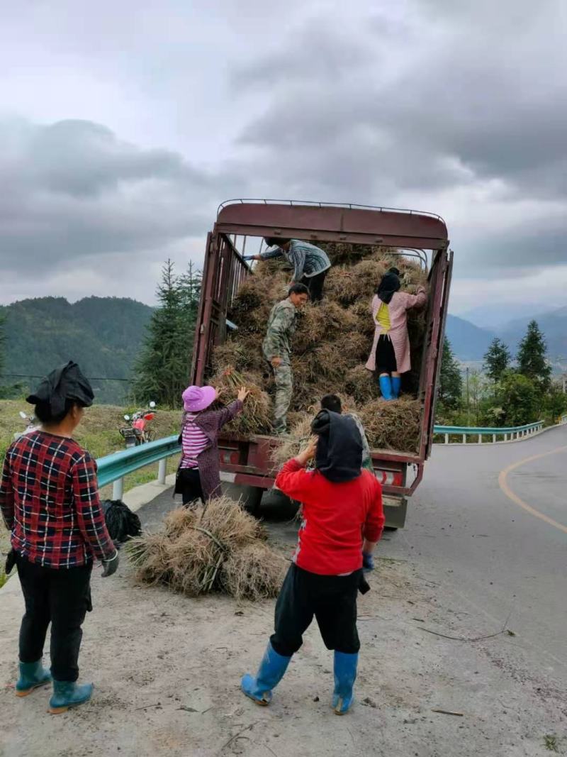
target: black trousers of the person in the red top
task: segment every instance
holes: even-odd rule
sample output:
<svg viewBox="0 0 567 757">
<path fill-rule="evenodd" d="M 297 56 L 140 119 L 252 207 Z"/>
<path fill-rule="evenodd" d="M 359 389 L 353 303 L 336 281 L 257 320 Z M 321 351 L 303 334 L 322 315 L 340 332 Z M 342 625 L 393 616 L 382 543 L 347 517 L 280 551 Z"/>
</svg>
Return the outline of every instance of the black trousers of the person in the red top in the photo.
<svg viewBox="0 0 567 757">
<path fill-rule="evenodd" d="M 361 571 L 351 575 L 317 575 L 292 565 L 277 597 L 271 646 L 290 657 L 317 619 L 327 650 L 355 654 L 361 648 L 356 628 L 356 597 Z"/>
</svg>

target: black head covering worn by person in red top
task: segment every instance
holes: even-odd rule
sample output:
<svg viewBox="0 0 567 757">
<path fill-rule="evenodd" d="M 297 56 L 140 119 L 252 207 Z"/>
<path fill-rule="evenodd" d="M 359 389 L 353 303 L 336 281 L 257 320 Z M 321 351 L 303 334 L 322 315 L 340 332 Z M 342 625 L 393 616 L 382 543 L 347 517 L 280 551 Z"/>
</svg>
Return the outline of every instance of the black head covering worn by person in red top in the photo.
<svg viewBox="0 0 567 757">
<path fill-rule="evenodd" d="M 325 478 L 340 483 L 361 475 L 362 441 L 352 418 L 321 410 L 311 430 L 318 435 L 315 466 Z"/>
</svg>

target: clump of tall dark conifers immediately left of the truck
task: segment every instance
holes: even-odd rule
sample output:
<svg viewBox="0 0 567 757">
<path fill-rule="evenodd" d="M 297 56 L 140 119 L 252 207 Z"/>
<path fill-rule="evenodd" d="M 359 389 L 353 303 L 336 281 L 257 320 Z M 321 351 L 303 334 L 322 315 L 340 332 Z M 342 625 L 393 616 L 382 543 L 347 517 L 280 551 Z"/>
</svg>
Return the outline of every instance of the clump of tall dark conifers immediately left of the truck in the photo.
<svg viewBox="0 0 567 757">
<path fill-rule="evenodd" d="M 186 276 L 175 276 L 171 260 L 162 269 L 156 296 L 159 302 L 135 366 L 135 400 L 179 407 L 187 387 L 193 332 L 200 291 L 200 275 L 192 266 Z"/>
</svg>

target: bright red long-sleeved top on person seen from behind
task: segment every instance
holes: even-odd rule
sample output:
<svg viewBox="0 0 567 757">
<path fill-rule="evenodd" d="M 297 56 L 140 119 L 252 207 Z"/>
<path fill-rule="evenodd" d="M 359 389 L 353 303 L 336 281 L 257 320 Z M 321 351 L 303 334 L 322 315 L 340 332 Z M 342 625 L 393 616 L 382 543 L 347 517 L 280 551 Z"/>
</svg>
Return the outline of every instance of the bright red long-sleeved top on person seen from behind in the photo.
<svg viewBox="0 0 567 757">
<path fill-rule="evenodd" d="M 362 567 L 362 540 L 378 541 L 384 528 L 382 487 L 363 470 L 334 484 L 293 459 L 277 474 L 276 486 L 303 505 L 293 562 L 318 575 L 341 575 Z"/>
</svg>

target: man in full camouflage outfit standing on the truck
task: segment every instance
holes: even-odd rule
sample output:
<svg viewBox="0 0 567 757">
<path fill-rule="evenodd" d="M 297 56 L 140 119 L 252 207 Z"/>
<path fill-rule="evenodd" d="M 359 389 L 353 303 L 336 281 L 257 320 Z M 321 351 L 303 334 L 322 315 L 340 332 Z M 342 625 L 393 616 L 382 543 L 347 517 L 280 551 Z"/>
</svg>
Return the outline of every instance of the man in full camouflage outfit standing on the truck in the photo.
<svg viewBox="0 0 567 757">
<path fill-rule="evenodd" d="M 268 329 L 262 350 L 274 372 L 276 396 L 274 400 L 274 432 L 287 433 L 287 410 L 293 393 L 291 370 L 291 341 L 296 331 L 297 309 L 309 299 L 305 284 L 290 286 L 288 297 L 274 305 L 268 318 Z"/>
</svg>

